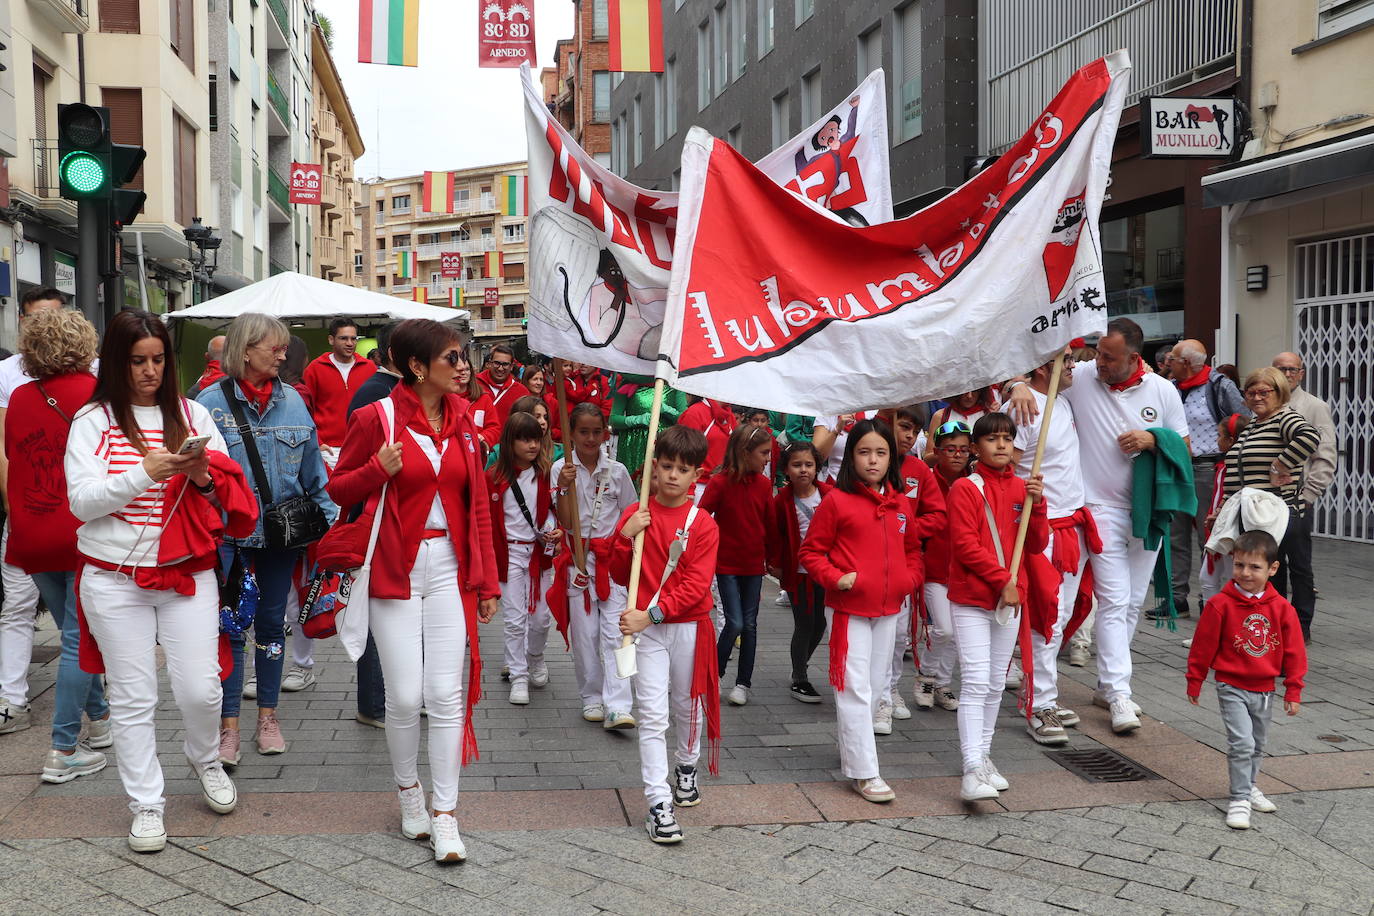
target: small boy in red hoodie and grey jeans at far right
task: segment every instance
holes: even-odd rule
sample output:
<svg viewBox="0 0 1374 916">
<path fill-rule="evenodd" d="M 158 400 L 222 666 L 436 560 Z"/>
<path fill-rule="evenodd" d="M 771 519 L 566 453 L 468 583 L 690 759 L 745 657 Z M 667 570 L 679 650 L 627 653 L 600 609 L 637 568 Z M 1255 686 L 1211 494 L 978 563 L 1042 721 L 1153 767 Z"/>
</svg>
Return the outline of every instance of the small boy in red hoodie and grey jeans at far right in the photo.
<svg viewBox="0 0 1374 916">
<path fill-rule="evenodd" d="M 1307 643 L 1297 611 L 1274 586 L 1279 545 L 1268 531 L 1245 531 L 1231 549 L 1231 581 L 1202 608 L 1189 650 L 1189 702 L 1216 672 L 1216 698 L 1226 725 L 1231 803 L 1226 825 L 1250 827 L 1250 812 L 1274 812 L 1254 780 L 1270 726 L 1274 678 L 1283 676 L 1283 711 L 1297 715 L 1307 676 Z"/>
</svg>

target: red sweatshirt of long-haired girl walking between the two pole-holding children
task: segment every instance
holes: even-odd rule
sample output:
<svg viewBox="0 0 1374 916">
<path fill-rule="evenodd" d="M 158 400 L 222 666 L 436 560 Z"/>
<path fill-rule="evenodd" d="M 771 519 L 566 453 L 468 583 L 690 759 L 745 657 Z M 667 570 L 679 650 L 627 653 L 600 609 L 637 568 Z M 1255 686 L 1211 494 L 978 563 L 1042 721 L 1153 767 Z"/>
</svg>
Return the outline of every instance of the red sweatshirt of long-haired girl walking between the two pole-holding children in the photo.
<svg viewBox="0 0 1374 916">
<path fill-rule="evenodd" d="M 856 617 L 896 614 L 921 586 L 925 573 L 915 504 L 892 489 L 834 489 L 811 519 L 798 559 L 837 611 Z M 840 580 L 846 573 L 859 575 L 853 588 L 841 592 Z"/>
</svg>

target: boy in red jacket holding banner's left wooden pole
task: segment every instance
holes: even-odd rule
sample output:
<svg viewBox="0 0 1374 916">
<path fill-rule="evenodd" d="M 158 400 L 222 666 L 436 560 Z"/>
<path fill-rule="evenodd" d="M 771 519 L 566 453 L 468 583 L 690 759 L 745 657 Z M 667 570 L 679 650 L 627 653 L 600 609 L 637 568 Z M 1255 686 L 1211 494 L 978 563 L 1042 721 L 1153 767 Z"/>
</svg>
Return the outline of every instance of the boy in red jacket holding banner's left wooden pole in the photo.
<svg viewBox="0 0 1374 916">
<path fill-rule="evenodd" d="M 702 718 L 712 775 L 717 772 L 720 754 L 720 677 L 710 623 L 710 578 L 716 573 L 720 531 L 691 499 L 705 460 L 706 437 L 699 431 L 673 426 L 658 435 L 650 468 L 654 496 L 649 505 L 636 503 L 621 516 L 620 537 L 610 556 L 611 578 L 628 585 L 635 536 L 644 531 L 639 592 L 635 607 L 621 614 L 620 632 L 639 634 L 635 654 L 639 772 L 649 799 L 644 829 L 655 843 L 683 839 L 673 817 L 675 803 L 683 808 L 701 803 L 697 761 Z M 669 710 L 677 735 L 672 790 L 665 740 Z"/>
</svg>

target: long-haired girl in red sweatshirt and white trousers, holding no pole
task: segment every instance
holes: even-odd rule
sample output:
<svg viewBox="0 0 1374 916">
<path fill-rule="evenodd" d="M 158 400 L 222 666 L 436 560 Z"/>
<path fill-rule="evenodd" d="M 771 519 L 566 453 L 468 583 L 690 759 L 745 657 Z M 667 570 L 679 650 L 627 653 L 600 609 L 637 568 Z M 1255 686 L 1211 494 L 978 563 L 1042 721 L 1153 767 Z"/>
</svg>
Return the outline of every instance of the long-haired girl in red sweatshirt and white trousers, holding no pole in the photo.
<svg viewBox="0 0 1374 916">
<path fill-rule="evenodd" d="M 919 588 L 922 563 L 916 509 L 882 420 L 859 420 L 849 431 L 835 489 L 820 501 L 798 558 L 826 589 L 840 768 L 867 801 L 890 802 L 896 792 L 878 773 L 872 720 L 892 678 L 897 612 Z"/>
</svg>

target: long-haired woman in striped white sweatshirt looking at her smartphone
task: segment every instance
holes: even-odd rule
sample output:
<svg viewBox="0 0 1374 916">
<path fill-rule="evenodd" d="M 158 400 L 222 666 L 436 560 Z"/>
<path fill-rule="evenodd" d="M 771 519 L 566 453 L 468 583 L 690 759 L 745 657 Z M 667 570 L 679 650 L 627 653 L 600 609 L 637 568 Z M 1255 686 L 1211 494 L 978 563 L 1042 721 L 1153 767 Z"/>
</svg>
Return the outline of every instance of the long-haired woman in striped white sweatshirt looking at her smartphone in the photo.
<svg viewBox="0 0 1374 916">
<path fill-rule="evenodd" d="M 207 438 L 183 453 L 191 437 Z M 155 314 L 111 319 L 95 393 L 71 422 L 66 477 L 80 522 L 77 612 L 93 637 L 81 647 L 81 667 L 106 674 L 120 779 L 133 810 L 129 846 L 153 853 L 166 845 L 157 645 L 206 803 L 227 814 L 238 802 L 218 762 L 220 672 L 229 666 L 220 655 L 214 567 L 218 540 L 243 537 L 257 522 L 253 493 L 209 411 L 181 397 L 172 339 Z"/>
</svg>

